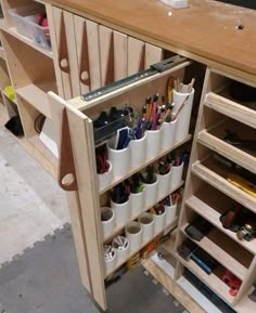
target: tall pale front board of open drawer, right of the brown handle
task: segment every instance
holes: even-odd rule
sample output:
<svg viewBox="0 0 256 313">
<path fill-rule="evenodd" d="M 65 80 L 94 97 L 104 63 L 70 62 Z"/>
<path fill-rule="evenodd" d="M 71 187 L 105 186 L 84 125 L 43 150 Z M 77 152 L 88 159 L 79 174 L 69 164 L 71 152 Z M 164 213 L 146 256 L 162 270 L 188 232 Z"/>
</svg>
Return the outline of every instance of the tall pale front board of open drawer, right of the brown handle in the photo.
<svg viewBox="0 0 256 313">
<path fill-rule="evenodd" d="M 74 164 L 81 206 L 82 225 L 91 276 L 92 297 L 105 310 L 105 287 L 103 268 L 102 230 L 100 223 L 100 201 L 95 177 L 95 156 L 92 145 L 92 122 L 67 104 Z M 82 147 L 82 148 L 81 148 Z M 88 218 L 90 217 L 90 218 Z"/>
</svg>

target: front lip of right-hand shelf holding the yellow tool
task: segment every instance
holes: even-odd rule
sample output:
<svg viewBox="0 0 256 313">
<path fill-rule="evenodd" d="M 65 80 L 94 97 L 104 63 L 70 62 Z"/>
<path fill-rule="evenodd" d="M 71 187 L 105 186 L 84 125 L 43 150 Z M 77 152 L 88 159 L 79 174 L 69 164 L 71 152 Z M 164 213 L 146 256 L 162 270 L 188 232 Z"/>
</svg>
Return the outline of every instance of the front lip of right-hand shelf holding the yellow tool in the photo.
<svg viewBox="0 0 256 313">
<path fill-rule="evenodd" d="M 229 197 L 247 207 L 253 212 L 256 212 L 256 199 L 254 197 L 232 185 L 201 162 L 195 162 L 192 166 L 192 172 L 217 190 L 226 193 Z"/>
</svg>

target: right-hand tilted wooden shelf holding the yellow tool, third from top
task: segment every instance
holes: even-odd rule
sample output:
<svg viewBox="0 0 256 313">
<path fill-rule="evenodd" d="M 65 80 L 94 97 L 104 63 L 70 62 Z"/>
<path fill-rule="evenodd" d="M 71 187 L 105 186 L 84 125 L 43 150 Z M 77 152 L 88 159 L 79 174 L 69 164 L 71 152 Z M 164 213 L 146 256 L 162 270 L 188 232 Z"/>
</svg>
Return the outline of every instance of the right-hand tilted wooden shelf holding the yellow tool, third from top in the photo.
<svg viewBox="0 0 256 313">
<path fill-rule="evenodd" d="M 218 165 L 213 158 L 208 158 L 204 162 L 194 162 L 192 165 L 192 172 L 208 184 L 233 198 L 235 201 L 247 207 L 253 212 L 256 212 L 256 198 L 231 184 L 226 179 L 228 170 Z"/>
</svg>

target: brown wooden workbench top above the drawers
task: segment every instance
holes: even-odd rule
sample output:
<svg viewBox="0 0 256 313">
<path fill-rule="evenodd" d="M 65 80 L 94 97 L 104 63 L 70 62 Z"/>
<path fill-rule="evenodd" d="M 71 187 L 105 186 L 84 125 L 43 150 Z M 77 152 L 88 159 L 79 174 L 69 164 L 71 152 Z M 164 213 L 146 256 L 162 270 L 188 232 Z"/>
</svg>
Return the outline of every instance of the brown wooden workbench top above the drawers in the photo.
<svg viewBox="0 0 256 313">
<path fill-rule="evenodd" d="M 190 0 L 183 10 L 158 0 L 47 1 L 205 64 L 217 62 L 256 75 L 255 10 L 214 0 Z M 238 29 L 239 24 L 244 28 Z"/>
</svg>

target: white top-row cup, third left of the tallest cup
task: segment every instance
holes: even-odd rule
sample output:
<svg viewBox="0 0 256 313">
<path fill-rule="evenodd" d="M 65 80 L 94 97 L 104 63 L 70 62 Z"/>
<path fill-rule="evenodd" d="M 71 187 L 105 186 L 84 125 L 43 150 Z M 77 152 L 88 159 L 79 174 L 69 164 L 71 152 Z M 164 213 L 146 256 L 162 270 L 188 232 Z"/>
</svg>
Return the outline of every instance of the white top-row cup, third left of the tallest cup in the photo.
<svg viewBox="0 0 256 313">
<path fill-rule="evenodd" d="M 131 167 L 139 168 L 146 159 L 146 132 L 142 139 L 130 141 Z"/>
</svg>

